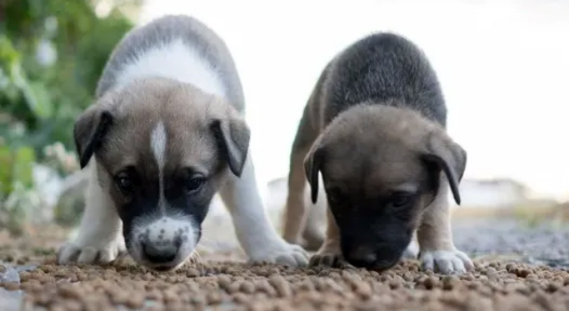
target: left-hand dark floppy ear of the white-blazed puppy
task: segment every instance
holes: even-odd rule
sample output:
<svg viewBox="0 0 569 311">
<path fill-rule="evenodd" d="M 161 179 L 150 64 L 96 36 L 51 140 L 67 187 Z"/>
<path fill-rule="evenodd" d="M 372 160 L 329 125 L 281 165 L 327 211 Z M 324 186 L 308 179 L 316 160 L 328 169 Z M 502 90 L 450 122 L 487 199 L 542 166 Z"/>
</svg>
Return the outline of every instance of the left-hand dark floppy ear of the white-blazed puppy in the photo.
<svg viewBox="0 0 569 311">
<path fill-rule="evenodd" d="M 87 108 L 77 118 L 73 136 L 81 169 L 84 169 L 95 151 L 100 148 L 100 143 L 111 124 L 113 116 L 110 111 L 97 105 Z"/>
</svg>

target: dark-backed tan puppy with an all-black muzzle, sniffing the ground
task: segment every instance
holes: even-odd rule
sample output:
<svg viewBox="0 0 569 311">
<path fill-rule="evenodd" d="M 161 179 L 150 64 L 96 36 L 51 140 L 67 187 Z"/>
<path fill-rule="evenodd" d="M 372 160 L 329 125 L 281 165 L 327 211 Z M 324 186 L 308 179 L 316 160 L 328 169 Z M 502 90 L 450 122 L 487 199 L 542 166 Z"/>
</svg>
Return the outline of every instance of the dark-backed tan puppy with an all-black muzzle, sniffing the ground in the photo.
<svg viewBox="0 0 569 311">
<path fill-rule="evenodd" d="M 325 241 L 311 265 L 389 269 L 416 232 L 426 269 L 473 267 L 453 244 L 448 189 L 460 203 L 467 153 L 445 132 L 437 75 L 402 36 L 367 36 L 337 55 L 317 81 L 293 142 L 284 239 L 307 230 L 306 179 L 328 203 Z M 413 246 L 413 245 L 412 245 Z M 407 250 L 413 253 L 413 250 Z"/>
</svg>

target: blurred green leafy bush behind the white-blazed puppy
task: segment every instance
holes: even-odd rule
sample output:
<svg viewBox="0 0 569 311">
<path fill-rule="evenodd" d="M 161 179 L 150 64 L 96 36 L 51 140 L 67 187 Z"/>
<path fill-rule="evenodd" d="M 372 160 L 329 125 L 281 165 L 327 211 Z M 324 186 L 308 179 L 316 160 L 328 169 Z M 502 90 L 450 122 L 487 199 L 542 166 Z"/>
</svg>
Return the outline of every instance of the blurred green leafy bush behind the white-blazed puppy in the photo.
<svg viewBox="0 0 569 311">
<path fill-rule="evenodd" d="M 108 55 L 132 28 L 124 8 L 140 5 L 119 3 L 100 18 L 98 1 L 0 1 L 0 208 L 16 189 L 31 189 L 33 163 L 52 163 L 49 146 L 75 150 L 76 116 L 92 103 Z"/>
</svg>

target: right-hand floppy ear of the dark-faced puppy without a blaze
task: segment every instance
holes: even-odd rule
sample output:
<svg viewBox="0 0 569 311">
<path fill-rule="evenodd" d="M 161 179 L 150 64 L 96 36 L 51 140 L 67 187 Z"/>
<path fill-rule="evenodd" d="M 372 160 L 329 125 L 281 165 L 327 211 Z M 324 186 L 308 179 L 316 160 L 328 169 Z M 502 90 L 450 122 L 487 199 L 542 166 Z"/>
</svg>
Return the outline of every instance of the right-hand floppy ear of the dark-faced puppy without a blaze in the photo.
<svg viewBox="0 0 569 311">
<path fill-rule="evenodd" d="M 445 132 L 434 132 L 429 139 L 428 151 L 422 155 L 422 158 L 436 164 L 437 173 L 440 173 L 440 170 L 445 171 L 454 201 L 460 205 L 459 183 L 466 170 L 466 150 L 451 140 Z"/>
</svg>

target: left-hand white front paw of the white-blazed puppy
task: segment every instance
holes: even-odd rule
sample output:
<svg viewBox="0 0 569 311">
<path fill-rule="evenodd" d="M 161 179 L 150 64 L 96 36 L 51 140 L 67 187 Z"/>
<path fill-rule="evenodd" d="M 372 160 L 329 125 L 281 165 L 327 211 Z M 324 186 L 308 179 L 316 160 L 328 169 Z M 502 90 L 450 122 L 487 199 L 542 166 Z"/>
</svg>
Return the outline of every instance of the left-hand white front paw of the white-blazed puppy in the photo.
<svg viewBox="0 0 569 311">
<path fill-rule="evenodd" d="M 117 236 L 111 241 L 76 240 L 69 241 L 60 247 L 57 262 L 60 265 L 78 264 L 108 264 L 126 253 L 124 239 Z"/>
</svg>

